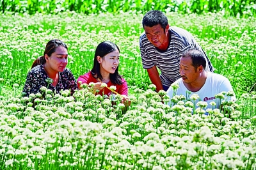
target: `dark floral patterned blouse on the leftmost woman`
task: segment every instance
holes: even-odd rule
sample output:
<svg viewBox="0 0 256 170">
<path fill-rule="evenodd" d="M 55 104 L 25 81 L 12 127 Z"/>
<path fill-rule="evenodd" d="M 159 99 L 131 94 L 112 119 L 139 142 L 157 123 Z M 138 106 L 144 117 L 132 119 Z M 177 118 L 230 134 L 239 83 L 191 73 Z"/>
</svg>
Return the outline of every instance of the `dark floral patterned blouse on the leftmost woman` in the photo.
<svg viewBox="0 0 256 170">
<path fill-rule="evenodd" d="M 25 96 L 29 96 L 31 93 L 41 93 L 40 88 L 45 86 L 47 88 L 48 83 L 45 81 L 48 77 L 44 70 L 44 65 L 38 65 L 32 68 L 28 75 L 22 92 L 25 92 Z M 49 84 L 49 89 L 53 92 L 60 93 L 61 89 L 70 89 L 70 94 L 72 95 L 77 88 L 76 79 L 70 70 L 65 68 L 63 72 L 59 72 L 59 82 L 54 87 Z"/>
</svg>

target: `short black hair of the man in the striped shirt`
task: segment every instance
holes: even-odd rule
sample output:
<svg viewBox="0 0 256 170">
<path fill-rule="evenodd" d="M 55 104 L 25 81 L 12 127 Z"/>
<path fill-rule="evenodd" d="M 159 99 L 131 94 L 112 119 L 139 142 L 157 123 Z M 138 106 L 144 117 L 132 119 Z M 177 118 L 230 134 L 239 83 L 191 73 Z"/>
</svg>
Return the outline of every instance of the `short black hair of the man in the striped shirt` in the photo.
<svg viewBox="0 0 256 170">
<path fill-rule="evenodd" d="M 153 27 L 160 24 L 163 29 L 168 25 L 168 19 L 163 12 L 158 10 L 151 10 L 147 12 L 142 20 L 142 26 Z"/>
</svg>

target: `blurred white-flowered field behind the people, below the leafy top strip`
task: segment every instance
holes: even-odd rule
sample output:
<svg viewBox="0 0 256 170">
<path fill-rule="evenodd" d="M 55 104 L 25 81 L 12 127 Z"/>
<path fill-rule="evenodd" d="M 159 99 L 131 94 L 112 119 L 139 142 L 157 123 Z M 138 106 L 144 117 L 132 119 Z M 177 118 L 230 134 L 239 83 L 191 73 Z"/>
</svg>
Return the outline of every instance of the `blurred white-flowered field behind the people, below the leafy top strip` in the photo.
<svg viewBox="0 0 256 170">
<path fill-rule="evenodd" d="M 256 20 L 237 19 L 221 13 L 183 15 L 166 13 L 170 26 L 189 31 L 205 50 L 216 70 L 227 77 L 237 97 L 248 93 L 256 77 Z M 141 64 L 139 37 L 143 14 L 85 15 L 76 12 L 35 15 L 7 13 L 0 16 L 0 77 L 5 86 L 23 88 L 33 61 L 53 38 L 68 45 L 68 68 L 75 78 L 92 69 L 97 45 L 110 40 L 121 50 L 120 73 L 129 89 L 151 84 Z M 72 57 L 71 57 L 72 56 Z"/>
</svg>

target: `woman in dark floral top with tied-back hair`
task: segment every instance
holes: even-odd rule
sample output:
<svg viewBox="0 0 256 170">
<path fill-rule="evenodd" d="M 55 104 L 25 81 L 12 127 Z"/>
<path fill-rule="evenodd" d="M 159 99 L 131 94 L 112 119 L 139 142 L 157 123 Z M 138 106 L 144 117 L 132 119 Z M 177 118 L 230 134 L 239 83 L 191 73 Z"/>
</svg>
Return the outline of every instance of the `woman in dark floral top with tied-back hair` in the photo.
<svg viewBox="0 0 256 170">
<path fill-rule="evenodd" d="M 78 89 L 74 75 L 66 68 L 67 49 L 67 45 L 61 40 L 51 40 L 47 43 L 44 56 L 34 61 L 28 73 L 22 91 L 26 93 L 24 96 L 40 93 L 42 86 L 51 89 L 54 93 L 60 93 L 61 89 L 69 89 L 70 95 Z M 52 79 L 52 83 L 46 81 L 49 78 Z"/>
</svg>

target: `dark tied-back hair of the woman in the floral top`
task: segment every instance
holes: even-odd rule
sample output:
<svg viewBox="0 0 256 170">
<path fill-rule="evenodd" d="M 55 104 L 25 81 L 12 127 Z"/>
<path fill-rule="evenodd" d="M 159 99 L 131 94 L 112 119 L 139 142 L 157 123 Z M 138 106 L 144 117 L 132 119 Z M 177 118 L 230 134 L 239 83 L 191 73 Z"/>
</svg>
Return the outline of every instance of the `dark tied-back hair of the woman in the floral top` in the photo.
<svg viewBox="0 0 256 170">
<path fill-rule="evenodd" d="M 64 42 L 62 42 L 61 40 L 55 39 L 55 40 L 49 41 L 46 44 L 44 55 L 47 54 L 49 57 L 51 57 L 52 53 L 55 52 L 57 47 L 65 47 L 68 50 L 68 47 Z M 40 56 L 39 58 L 35 59 L 35 61 L 33 62 L 33 65 L 31 66 L 31 69 L 38 65 L 44 65 L 44 63 L 46 63 L 44 56 Z"/>
</svg>

